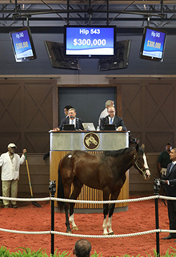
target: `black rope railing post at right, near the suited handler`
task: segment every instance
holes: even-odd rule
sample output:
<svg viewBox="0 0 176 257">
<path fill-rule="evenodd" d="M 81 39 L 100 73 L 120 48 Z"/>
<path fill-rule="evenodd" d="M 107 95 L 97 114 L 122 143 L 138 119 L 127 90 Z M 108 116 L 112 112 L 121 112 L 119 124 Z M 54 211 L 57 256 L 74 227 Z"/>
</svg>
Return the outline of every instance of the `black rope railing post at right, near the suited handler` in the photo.
<svg viewBox="0 0 176 257">
<path fill-rule="evenodd" d="M 154 179 L 153 189 L 154 195 L 159 195 L 159 189 L 161 188 L 160 181 L 158 179 Z M 159 228 L 159 215 L 158 215 L 158 198 L 155 199 L 155 218 L 156 218 L 156 230 Z M 160 236 L 159 232 L 156 232 L 156 253 L 157 256 L 160 256 Z"/>
</svg>

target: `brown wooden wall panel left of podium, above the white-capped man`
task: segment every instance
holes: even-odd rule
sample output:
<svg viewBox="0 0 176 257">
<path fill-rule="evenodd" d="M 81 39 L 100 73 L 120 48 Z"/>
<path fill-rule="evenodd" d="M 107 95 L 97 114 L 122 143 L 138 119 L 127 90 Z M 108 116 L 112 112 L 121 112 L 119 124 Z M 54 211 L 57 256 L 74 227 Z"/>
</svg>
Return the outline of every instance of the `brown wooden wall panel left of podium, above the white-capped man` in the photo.
<svg viewBox="0 0 176 257">
<path fill-rule="evenodd" d="M 0 80 L 0 152 L 10 142 L 28 153 L 49 151 L 56 80 Z"/>
</svg>

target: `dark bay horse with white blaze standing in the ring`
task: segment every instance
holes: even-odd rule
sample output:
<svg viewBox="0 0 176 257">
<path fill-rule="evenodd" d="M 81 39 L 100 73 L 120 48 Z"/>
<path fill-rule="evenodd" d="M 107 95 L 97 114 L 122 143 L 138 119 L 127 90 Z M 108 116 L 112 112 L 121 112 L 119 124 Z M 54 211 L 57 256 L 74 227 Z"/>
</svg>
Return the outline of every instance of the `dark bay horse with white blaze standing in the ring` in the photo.
<svg viewBox="0 0 176 257">
<path fill-rule="evenodd" d="M 70 151 L 58 165 L 58 198 L 77 199 L 83 184 L 94 189 L 103 191 L 103 201 L 117 200 L 120 189 L 126 180 L 126 171 L 132 165 L 142 173 L 144 178 L 149 179 L 151 173 L 147 164 L 145 151 L 137 144 L 136 147 L 120 149 L 118 151 L 104 151 L 99 154 L 91 154 L 86 151 Z M 71 185 L 73 193 L 70 196 Z M 58 202 L 58 206 L 65 207 L 66 232 L 72 233 L 77 230 L 74 222 L 73 208 L 75 203 L 70 203 L 70 218 L 68 218 L 69 203 Z M 115 203 L 103 204 L 103 234 L 113 234 L 111 228 Z M 108 220 L 106 222 L 106 218 Z"/>
</svg>

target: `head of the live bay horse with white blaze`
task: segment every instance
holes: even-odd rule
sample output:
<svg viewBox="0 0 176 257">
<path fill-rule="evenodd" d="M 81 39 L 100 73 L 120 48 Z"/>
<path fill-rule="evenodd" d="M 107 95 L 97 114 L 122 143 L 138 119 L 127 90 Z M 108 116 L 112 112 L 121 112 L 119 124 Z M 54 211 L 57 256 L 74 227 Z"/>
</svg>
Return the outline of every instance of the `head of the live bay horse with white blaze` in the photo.
<svg viewBox="0 0 176 257">
<path fill-rule="evenodd" d="M 146 152 L 144 150 L 144 144 L 142 144 L 142 147 L 139 147 L 139 144 L 135 147 L 134 150 L 134 168 L 139 170 L 139 173 L 142 173 L 145 180 L 149 180 L 151 177 L 151 173 L 149 170 L 149 165 L 147 163 L 147 156 Z"/>
</svg>

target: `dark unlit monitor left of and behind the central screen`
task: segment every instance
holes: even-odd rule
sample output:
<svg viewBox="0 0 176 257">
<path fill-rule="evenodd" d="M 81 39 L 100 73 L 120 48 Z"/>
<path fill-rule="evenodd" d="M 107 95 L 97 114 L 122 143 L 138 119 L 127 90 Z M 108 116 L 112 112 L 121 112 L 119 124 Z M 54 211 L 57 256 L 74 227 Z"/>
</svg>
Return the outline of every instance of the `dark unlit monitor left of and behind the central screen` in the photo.
<svg viewBox="0 0 176 257">
<path fill-rule="evenodd" d="M 65 58 L 63 54 L 63 43 L 44 41 L 44 45 L 53 68 L 81 70 L 77 58 Z"/>
</svg>

